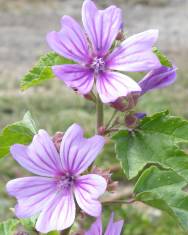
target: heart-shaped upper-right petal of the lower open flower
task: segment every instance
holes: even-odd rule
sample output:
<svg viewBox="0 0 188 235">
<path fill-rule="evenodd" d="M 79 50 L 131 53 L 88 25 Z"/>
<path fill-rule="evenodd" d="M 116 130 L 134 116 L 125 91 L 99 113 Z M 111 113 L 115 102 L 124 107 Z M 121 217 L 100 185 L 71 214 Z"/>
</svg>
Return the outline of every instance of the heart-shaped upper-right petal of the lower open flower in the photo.
<svg viewBox="0 0 188 235">
<path fill-rule="evenodd" d="M 64 134 L 60 147 L 65 171 L 71 174 L 85 171 L 101 152 L 104 142 L 104 138 L 99 135 L 85 139 L 81 127 L 73 124 Z"/>
</svg>

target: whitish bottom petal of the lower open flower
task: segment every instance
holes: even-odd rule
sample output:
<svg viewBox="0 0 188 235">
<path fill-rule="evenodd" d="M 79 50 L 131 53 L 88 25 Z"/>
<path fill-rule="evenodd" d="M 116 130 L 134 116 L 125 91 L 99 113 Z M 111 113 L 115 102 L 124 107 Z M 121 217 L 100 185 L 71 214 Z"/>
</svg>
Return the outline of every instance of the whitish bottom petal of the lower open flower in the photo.
<svg viewBox="0 0 188 235">
<path fill-rule="evenodd" d="M 56 194 L 56 197 L 48 204 L 38 217 L 36 229 L 41 233 L 53 230 L 64 230 L 70 227 L 76 214 L 73 195 L 68 193 Z"/>
</svg>

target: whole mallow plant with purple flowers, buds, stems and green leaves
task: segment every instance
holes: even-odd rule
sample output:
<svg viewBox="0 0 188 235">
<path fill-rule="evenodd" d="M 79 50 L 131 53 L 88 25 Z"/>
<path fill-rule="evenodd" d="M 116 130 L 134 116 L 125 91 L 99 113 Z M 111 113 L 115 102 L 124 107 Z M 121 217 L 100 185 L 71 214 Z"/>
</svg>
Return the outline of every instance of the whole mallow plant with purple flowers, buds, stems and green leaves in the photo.
<svg viewBox="0 0 188 235">
<path fill-rule="evenodd" d="M 47 35 L 53 51 L 23 77 L 21 88 L 54 77 L 63 80 L 76 95 L 95 104 L 96 134 L 84 138 L 83 127 L 72 124 L 52 137 L 38 130 L 29 112 L 22 121 L 5 127 L 0 157 L 10 153 L 35 176 L 7 183 L 7 193 L 17 199 L 13 210 L 17 218 L 3 223 L 9 233 L 27 223 L 36 234 L 120 235 L 126 234 L 126 218 L 116 221 L 111 212 L 103 231 L 106 209 L 114 203 L 122 208 L 141 201 L 166 211 L 188 230 L 188 195 L 183 191 L 188 154 L 179 145 L 188 142 L 188 121 L 168 111 L 149 116 L 147 110 L 137 110 L 143 95 L 176 80 L 176 66 L 154 47 L 158 30 L 127 37 L 121 9 L 98 10 L 91 0 L 83 2 L 82 23 L 83 27 L 70 16 L 62 18 L 60 31 Z M 146 74 L 135 81 L 130 72 Z M 108 121 L 104 106 L 114 110 Z M 111 168 L 96 165 L 108 144 L 115 145 L 125 177 L 134 178 L 131 197 L 110 197 L 118 195 L 118 182 L 113 181 Z M 123 179 L 121 184 L 126 187 Z"/>
</svg>

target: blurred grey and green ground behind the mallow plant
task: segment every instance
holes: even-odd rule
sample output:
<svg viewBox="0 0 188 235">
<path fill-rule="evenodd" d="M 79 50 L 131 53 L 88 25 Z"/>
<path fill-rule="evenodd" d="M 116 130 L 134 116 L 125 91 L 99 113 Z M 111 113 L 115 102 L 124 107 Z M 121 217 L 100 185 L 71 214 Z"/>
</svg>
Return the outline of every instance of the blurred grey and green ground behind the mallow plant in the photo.
<svg viewBox="0 0 188 235">
<path fill-rule="evenodd" d="M 0 0 L 0 129 L 21 120 L 30 110 L 40 128 L 49 133 L 63 131 L 73 122 L 80 123 L 88 135 L 94 131 L 95 109 L 82 97 L 65 88 L 57 79 L 45 86 L 21 92 L 19 80 L 35 64 L 37 58 L 49 51 L 45 37 L 48 31 L 59 30 L 62 15 L 80 21 L 82 0 Z M 96 0 L 100 7 L 111 4 L 123 9 L 127 35 L 158 28 L 157 46 L 178 67 L 177 82 L 160 91 L 145 95 L 138 110 L 154 113 L 169 109 L 172 114 L 188 118 L 188 0 Z M 106 110 L 106 118 L 111 111 Z M 116 163 L 112 146 L 103 153 Z M 100 161 L 100 160 L 99 160 Z M 15 203 L 5 192 L 11 178 L 26 175 L 8 156 L 0 160 L 0 221 L 12 216 L 9 210 Z M 126 179 L 115 172 L 114 178 Z M 129 192 L 126 184 L 122 190 Z M 125 235 L 184 235 L 185 233 L 166 214 L 145 207 L 116 206 L 117 217 L 126 221 Z"/>
</svg>

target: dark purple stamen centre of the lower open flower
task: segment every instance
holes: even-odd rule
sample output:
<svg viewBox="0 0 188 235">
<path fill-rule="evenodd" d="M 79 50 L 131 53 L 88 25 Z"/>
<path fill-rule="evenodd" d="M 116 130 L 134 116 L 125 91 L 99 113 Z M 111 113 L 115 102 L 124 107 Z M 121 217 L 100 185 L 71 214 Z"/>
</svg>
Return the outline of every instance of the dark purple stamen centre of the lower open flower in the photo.
<svg viewBox="0 0 188 235">
<path fill-rule="evenodd" d="M 72 175 L 64 175 L 60 176 L 57 179 L 57 189 L 60 190 L 68 190 L 71 189 L 74 185 L 75 176 Z"/>
</svg>

